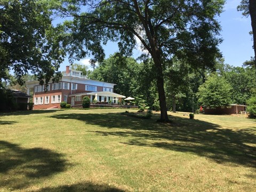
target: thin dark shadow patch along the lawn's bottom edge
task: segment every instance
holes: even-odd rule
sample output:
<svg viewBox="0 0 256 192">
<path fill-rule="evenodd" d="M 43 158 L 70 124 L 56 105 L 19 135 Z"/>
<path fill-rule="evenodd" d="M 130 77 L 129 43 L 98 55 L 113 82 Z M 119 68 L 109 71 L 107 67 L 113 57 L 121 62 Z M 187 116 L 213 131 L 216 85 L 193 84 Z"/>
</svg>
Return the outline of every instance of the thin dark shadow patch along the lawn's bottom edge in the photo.
<svg viewBox="0 0 256 192">
<path fill-rule="evenodd" d="M 124 192 L 122 189 L 116 187 L 111 187 L 109 185 L 99 185 L 91 182 L 77 183 L 74 185 L 65 185 L 59 187 L 46 187 L 34 192 L 55 192 L 55 191 L 65 191 L 65 192 L 79 192 L 79 191 L 95 191 L 95 192 Z"/>
</svg>

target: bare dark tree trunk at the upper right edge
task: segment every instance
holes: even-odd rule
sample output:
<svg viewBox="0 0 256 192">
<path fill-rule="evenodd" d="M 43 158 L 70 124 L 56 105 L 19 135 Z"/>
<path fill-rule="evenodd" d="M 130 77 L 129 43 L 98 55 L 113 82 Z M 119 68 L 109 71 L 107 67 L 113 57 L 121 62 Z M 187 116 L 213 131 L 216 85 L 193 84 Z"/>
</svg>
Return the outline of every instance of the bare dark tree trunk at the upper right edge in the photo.
<svg viewBox="0 0 256 192">
<path fill-rule="evenodd" d="M 256 0 L 249 0 L 249 11 L 251 16 L 251 25 L 253 33 L 254 66 L 256 75 Z M 256 76 L 255 76 L 256 78 Z"/>
</svg>

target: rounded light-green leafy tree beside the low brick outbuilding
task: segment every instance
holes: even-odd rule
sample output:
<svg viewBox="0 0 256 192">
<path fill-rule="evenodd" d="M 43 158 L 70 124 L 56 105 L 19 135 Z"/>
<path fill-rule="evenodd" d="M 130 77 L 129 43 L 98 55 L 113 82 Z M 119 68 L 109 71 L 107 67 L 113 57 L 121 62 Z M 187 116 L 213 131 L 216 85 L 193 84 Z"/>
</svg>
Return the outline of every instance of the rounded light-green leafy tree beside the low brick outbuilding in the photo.
<svg viewBox="0 0 256 192">
<path fill-rule="evenodd" d="M 212 73 L 205 83 L 199 86 L 198 101 L 209 107 L 227 106 L 231 103 L 231 89 L 225 78 Z"/>
</svg>

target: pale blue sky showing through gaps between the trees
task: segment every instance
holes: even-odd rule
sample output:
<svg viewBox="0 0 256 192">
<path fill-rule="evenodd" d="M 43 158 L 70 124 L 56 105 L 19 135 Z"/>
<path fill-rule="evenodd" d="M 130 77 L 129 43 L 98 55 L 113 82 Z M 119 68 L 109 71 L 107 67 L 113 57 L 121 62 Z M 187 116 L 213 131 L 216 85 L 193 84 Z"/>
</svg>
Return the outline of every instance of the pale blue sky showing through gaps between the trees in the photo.
<svg viewBox="0 0 256 192">
<path fill-rule="evenodd" d="M 220 34 L 223 39 L 219 49 L 225 58 L 225 63 L 232 66 L 242 66 L 243 62 L 250 60 L 254 54 L 252 36 L 249 35 L 249 31 L 252 30 L 251 19 L 244 17 L 242 12 L 237 11 L 236 7 L 240 2 L 241 0 L 227 0 L 224 12 L 218 18 L 222 27 Z M 106 58 L 117 51 L 116 43 L 109 42 L 105 46 Z M 133 57 L 137 58 L 139 55 L 140 50 L 134 50 Z M 76 63 L 90 66 L 89 60 L 90 58 L 85 58 Z M 65 70 L 67 65 L 69 62 L 66 59 L 61 64 L 60 70 Z"/>
</svg>

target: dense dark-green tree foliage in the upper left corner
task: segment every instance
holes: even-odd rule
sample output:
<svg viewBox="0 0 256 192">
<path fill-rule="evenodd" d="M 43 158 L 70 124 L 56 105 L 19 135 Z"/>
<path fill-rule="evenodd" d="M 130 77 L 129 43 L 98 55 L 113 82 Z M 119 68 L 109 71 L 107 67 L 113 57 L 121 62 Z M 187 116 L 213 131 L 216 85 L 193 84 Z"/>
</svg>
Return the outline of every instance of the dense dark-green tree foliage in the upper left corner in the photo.
<svg viewBox="0 0 256 192">
<path fill-rule="evenodd" d="M 0 1 L 0 85 L 9 79 L 9 70 L 19 84 L 28 71 L 43 84 L 60 76 L 58 68 L 63 52 L 59 48 L 58 32 L 51 24 L 51 12 L 41 1 Z"/>
</svg>

